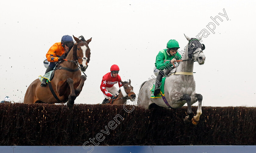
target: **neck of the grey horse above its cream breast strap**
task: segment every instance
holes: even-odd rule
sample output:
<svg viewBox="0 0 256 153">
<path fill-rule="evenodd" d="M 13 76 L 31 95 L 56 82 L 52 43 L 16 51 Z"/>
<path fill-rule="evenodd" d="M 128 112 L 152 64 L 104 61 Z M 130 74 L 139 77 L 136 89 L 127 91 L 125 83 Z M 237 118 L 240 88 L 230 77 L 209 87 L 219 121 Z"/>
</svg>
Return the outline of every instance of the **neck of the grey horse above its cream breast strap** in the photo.
<svg viewBox="0 0 256 153">
<path fill-rule="evenodd" d="M 186 47 L 181 60 L 188 60 L 188 59 L 189 58 L 187 55 L 187 47 Z M 194 68 L 194 61 L 188 60 L 188 61 L 180 62 L 179 66 L 176 69 L 176 72 L 193 72 L 193 68 Z"/>
</svg>

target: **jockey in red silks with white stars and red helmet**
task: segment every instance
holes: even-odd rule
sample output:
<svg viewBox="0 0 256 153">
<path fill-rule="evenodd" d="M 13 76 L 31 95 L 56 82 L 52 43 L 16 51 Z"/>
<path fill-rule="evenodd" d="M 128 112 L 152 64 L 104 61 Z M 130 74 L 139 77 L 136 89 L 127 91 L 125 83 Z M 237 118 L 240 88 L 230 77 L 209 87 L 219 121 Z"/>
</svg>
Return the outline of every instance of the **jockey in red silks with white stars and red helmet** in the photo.
<svg viewBox="0 0 256 153">
<path fill-rule="evenodd" d="M 118 89 L 114 86 L 118 82 L 119 88 L 122 86 L 121 77 L 118 75 L 119 67 L 117 65 L 112 65 L 110 72 L 102 77 L 101 81 L 101 91 L 104 94 L 105 99 L 102 104 L 105 104 L 110 98 L 114 98 L 118 95 Z"/>
</svg>

